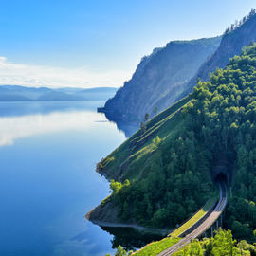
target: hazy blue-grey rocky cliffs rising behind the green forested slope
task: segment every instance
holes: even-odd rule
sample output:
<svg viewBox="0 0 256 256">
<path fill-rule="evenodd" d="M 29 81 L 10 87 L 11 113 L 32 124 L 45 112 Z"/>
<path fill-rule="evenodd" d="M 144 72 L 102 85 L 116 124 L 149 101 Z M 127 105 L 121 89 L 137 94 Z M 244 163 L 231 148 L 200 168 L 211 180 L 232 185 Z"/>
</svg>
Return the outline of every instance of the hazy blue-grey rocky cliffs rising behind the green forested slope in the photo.
<svg viewBox="0 0 256 256">
<path fill-rule="evenodd" d="M 221 42 L 220 42 L 221 41 Z M 192 92 L 200 78 L 223 68 L 243 46 L 256 42 L 256 15 L 252 10 L 239 26 L 232 25 L 224 36 L 192 41 L 174 41 L 144 57 L 129 82 L 106 102 L 108 119 L 139 122 L 145 113 L 154 115 Z"/>
</svg>

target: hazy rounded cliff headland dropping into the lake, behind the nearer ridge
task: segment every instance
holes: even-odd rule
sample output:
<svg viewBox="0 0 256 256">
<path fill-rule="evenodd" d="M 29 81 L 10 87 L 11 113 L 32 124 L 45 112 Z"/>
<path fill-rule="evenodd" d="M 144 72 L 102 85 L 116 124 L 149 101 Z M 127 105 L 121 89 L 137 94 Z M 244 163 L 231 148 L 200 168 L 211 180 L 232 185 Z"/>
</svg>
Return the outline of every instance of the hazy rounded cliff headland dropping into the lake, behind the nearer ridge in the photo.
<svg viewBox="0 0 256 256">
<path fill-rule="evenodd" d="M 184 91 L 184 85 L 219 46 L 220 37 L 192 41 L 174 41 L 155 48 L 144 57 L 129 82 L 125 82 L 113 99 L 101 110 L 109 119 L 139 122 L 155 107 L 163 110 L 159 100 L 169 95 L 170 106 Z"/>
</svg>

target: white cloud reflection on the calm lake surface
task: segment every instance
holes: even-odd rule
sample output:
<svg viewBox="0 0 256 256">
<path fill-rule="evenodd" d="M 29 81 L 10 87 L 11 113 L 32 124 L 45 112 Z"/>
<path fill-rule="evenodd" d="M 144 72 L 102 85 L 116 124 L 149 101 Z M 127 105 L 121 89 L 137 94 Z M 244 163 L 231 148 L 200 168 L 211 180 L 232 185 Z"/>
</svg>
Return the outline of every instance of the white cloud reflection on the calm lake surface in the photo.
<svg viewBox="0 0 256 256">
<path fill-rule="evenodd" d="M 84 111 L 2 117 L 0 118 L 0 146 L 11 145 L 14 140 L 21 137 L 31 137 L 65 130 L 89 129 L 94 121 L 99 120 L 104 121 L 105 119 L 96 113 Z"/>
</svg>

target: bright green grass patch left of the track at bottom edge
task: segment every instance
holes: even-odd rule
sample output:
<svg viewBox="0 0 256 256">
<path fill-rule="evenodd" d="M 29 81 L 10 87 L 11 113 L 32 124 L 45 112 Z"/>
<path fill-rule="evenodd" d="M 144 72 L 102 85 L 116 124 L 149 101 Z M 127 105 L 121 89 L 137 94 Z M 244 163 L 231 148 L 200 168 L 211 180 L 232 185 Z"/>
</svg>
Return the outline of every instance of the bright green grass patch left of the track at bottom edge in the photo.
<svg viewBox="0 0 256 256">
<path fill-rule="evenodd" d="M 136 256 L 155 256 L 161 251 L 167 249 L 168 247 L 172 247 L 174 244 L 176 244 L 180 238 L 172 238 L 172 237 L 166 237 L 160 241 L 152 242 L 148 244 L 147 246 L 137 250 L 133 255 Z"/>
</svg>

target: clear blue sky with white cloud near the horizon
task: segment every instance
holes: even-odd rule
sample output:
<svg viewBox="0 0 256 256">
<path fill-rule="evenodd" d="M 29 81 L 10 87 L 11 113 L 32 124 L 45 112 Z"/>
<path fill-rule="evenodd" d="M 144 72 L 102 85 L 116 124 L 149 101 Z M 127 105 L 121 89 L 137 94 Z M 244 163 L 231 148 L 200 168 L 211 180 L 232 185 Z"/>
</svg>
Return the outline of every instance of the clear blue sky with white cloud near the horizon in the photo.
<svg viewBox="0 0 256 256">
<path fill-rule="evenodd" d="M 255 0 L 0 0 L 0 84 L 122 86 L 172 40 L 221 35 Z"/>
</svg>

